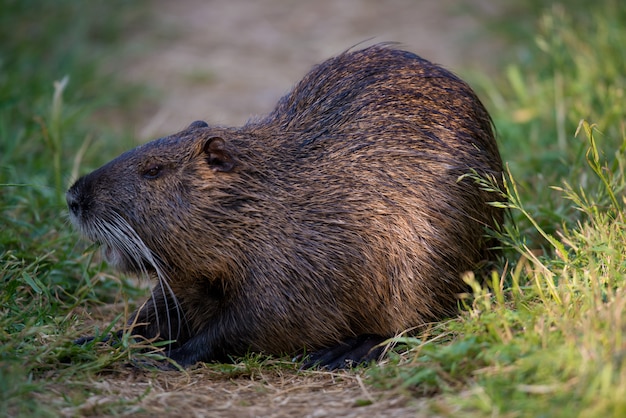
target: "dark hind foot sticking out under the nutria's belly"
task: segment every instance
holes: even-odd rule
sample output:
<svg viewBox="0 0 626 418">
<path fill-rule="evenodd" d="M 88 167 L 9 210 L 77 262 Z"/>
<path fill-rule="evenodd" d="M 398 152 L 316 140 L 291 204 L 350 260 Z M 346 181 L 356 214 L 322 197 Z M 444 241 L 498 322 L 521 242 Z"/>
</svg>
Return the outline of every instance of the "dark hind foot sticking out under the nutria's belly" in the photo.
<svg viewBox="0 0 626 418">
<path fill-rule="evenodd" d="M 311 353 L 302 369 L 319 367 L 327 370 L 348 369 L 377 360 L 383 353 L 381 343 L 387 338 L 379 335 L 359 335 L 335 346 Z"/>
</svg>

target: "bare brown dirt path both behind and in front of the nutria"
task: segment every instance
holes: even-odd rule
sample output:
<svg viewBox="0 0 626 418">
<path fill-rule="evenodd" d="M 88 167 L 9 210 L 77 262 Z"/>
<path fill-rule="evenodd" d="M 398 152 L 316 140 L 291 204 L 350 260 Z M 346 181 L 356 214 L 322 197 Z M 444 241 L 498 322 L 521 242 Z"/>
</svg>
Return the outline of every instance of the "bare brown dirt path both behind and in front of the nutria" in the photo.
<svg viewBox="0 0 626 418">
<path fill-rule="evenodd" d="M 397 41 L 453 71 L 489 72 L 499 46 L 482 18 L 497 15 L 494 3 L 154 0 L 153 19 L 133 28 L 133 53 L 116 70 L 159 93 L 157 104 L 133 121 L 138 141 L 198 119 L 240 125 L 271 111 L 312 65 L 362 42 Z M 375 389 L 363 380 L 358 372 L 283 369 L 229 377 L 203 367 L 187 374 L 135 370 L 102 376 L 94 385 L 110 397 L 66 412 L 99 415 L 101 403 L 141 398 L 138 416 L 433 416 L 426 405 L 436 399 Z"/>
</svg>

